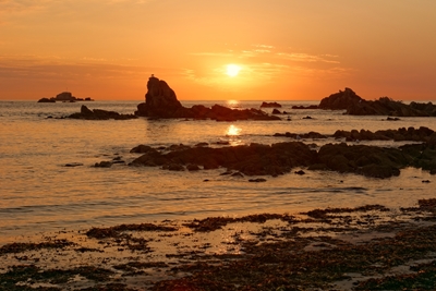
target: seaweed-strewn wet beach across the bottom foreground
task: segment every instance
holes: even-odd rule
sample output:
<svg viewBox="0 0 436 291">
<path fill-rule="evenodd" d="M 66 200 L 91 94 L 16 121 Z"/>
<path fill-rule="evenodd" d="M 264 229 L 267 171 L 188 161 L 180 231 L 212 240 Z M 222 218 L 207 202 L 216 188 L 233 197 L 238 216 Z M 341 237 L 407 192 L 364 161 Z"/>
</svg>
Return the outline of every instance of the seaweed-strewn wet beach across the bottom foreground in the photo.
<svg viewBox="0 0 436 291">
<path fill-rule="evenodd" d="M 0 290 L 404 287 L 404 276 L 435 276 L 436 199 L 41 233 L 1 245 L 0 262 Z"/>
</svg>

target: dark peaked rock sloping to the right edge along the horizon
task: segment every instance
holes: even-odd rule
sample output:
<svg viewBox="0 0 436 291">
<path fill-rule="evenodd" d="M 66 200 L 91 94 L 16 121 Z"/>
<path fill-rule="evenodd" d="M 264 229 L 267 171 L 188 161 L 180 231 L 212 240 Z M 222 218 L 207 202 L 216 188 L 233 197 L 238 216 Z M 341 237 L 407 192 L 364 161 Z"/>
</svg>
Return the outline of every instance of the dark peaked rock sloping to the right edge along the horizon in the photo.
<svg viewBox="0 0 436 291">
<path fill-rule="evenodd" d="M 391 117 L 436 117 L 436 106 L 432 102 L 411 102 L 405 105 L 388 97 L 378 100 L 364 100 L 352 89 L 331 94 L 320 100 L 319 109 L 346 110 L 350 116 L 391 116 Z"/>
</svg>

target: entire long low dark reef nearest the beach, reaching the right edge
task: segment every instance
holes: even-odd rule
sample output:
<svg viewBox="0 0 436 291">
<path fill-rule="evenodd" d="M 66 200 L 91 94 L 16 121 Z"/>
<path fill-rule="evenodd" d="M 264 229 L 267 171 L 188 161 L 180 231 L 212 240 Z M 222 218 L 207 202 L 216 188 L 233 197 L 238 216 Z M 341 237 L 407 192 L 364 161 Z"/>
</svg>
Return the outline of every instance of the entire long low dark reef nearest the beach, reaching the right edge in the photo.
<svg viewBox="0 0 436 291">
<path fill-rule="evenodd" d="M 251 144 L 233 147 L 187 147 L 162 153 L 140 146 L 145 154 L 130 166 L 161 167 L 183 171 L 195 166 L 203 169 L 227 168 L 245 175 L 284 174 L 295 167 L 310 170 L 350 172 L 374 178 L 389 178 L 400 174 L 405 167 L 422 168 L 436 173 L 436 145 L 405 145 L 400 148 L 383 148 L 366 145 L 327 144 L 318 151 L 301 142 L 272 145 Z M 144 153 L 132 149 L 132 153 Z"/>
</svg>

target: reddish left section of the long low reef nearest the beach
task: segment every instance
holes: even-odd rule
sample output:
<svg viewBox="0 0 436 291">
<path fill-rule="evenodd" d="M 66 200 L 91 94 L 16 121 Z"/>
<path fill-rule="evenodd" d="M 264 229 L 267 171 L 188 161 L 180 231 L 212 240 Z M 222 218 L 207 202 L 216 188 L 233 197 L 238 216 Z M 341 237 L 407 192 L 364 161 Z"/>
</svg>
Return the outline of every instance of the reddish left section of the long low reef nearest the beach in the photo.
<svg viewBox="0 0 436 291">
<path fill-rule="evenodd" d="M 251 144 L 234 147 L 189 147 L 170 153 L 148 151 L 133 160 L 131 166 L 159 166 L 170 169 L 203 167 L 203 169 L 227 168 L 246 175 L 279 175 L 293 167 L 307 167 L 315 162 L 316 151 L 299 142 L 274 145 Z"/>
</svg>

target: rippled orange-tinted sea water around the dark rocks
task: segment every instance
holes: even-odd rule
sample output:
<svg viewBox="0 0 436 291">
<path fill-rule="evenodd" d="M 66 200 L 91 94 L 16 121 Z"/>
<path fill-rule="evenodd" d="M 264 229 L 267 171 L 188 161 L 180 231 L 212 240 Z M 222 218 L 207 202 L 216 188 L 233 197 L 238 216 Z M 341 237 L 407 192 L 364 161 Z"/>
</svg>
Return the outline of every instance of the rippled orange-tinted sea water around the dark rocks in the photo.
<svg viewBox="0 0 436 291">
<path fill-rule="evenodd" d="M 264 183 L 249 178 L 220 175 L 226 169 L 173 172 L 150 167 L 129 167 L 140 145 L 218 146 L 292 141 L 275 133 L 334 134 L 337 130 L 388 130 L 427 126 L 435 118 L 350 117 L 342 111 L 293 110 L 292 105 L 318 101 L 279 101 L 289 114 L 281 121 L 216 122 L 210 120 L 73 120 L 82 104 L 90 109 L 133 113 L 141 101 L 90 101 L 38 104 L 0 101 L 0 244 L 21 235 L 60 230 L 80 230 L 120 223 L 186 220 L 209 216 L 243 216 L 288 213 L 326 207 L 382 204 L 414 206 L 420 198 L 435 197 L 436 179 L 420 169 L 403 169 L 399 177 L 372 179 L 330 171 L 293 172 L 265 177 Z M 261 101 L 182 101 L 220 104 L 231 108 L 259 108 Z M 271 112 L 272 109 L 264 109 Z M 304 117 L 312 119 L 304 119 Z M 288 121 L 287 118 L 291 120 Z M 306 140 L 322 146 L 343 141 Z M 363 143 L 363 142 L 361 142 Z M 371 142 L 377 146 L 403 143 Z M 95 168 L 96 162 L 120 157 L 125 163 Z M 77 167 L 65 167 L 78 163 Z M 295 169 L 299 170 L 299 169 Z M 304 170 L 304 169 L 303 169 Z M 209 180 L 204 182 L 204 180 Z M 429 180 L 431 183 L 423 183 Z"/>
</svg>

